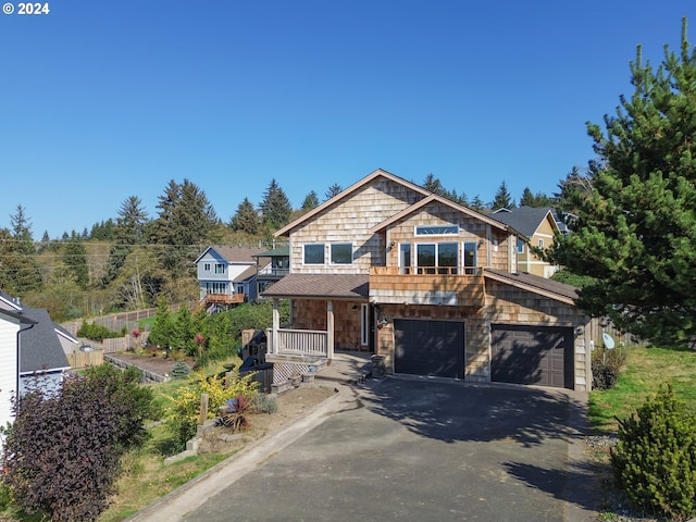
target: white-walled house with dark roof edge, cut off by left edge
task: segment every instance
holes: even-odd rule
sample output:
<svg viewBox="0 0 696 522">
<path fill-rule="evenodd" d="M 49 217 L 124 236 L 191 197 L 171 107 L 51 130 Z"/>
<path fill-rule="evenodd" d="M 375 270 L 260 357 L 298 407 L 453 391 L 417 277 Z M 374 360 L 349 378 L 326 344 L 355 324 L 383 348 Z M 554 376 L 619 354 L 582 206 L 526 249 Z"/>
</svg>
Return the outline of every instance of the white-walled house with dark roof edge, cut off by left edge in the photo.
<svg viewBox="0 0 696 522">
<path fill-rule="evenodd" d="M 0 426 L 14 420 L 13 401 L 20 388 L 18 347 L 35 322 L 21 311 L 0 308 Z"/>
</svg>

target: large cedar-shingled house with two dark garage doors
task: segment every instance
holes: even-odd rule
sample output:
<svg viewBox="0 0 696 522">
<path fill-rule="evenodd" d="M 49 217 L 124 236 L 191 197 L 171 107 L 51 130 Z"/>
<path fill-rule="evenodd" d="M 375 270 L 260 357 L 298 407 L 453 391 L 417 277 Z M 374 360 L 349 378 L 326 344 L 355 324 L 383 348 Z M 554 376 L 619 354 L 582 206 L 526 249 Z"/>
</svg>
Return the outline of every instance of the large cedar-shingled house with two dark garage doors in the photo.
<svg viewBox="0 0 696 522">
<path fill-rule="evenodd" d="M 373 172 L 276 232 L 289 274 L 262 296 L 274 303 L 274 382 L 363 350 L 388 373 L 588 390 L 589 318 L 575 288 L 518 273 L 519 235 Z"/>
</svg>

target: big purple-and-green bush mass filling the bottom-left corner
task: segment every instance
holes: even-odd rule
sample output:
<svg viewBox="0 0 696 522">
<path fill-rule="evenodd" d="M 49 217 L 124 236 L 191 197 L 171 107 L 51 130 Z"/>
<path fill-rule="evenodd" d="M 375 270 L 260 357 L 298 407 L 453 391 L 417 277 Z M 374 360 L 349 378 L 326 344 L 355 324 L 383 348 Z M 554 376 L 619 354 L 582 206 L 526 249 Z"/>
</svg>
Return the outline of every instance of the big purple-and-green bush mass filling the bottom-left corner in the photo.
<svg viewBox="0 0 696 522">
<path fill-rule="evenodd" d="M 58 391 L 32 387 L 4 440 L 4 471 L 18 505 L 57 522 L 95 520 L 107 507 L 121 457 L 146 439 L 152 391 L 137 369 L 109 364 L 65 381 Z"/>
</svg>

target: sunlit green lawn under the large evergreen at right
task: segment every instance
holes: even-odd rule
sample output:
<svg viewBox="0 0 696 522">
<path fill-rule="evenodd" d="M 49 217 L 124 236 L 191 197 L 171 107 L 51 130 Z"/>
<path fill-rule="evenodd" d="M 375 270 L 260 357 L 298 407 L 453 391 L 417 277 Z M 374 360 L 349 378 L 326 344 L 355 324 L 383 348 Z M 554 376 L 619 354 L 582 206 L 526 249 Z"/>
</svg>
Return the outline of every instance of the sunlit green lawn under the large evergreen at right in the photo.
<svg viewBox="0 0 696 522">
<path fill-rule="evenodd" d="M 589 421 L 599 432 L 616 432 L 616 418 L 630 417 L 661 384 L 696 413 L 696 351 L 626 347 L 617 386 L 589 396 Z"/>
</svg>

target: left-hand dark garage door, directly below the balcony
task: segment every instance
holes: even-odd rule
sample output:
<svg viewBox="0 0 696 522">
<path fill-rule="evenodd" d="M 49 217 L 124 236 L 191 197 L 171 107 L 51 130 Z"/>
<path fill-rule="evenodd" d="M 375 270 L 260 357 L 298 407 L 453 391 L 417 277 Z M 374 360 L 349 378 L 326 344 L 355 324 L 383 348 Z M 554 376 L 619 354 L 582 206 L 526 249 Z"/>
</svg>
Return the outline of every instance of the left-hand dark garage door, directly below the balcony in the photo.
<svg viewBox="0 0 696 522">
<path fill-rule="evenodd" d="M 394 320 L 394 371 L 464 378 L 464 323 Z"/>
</svg>

